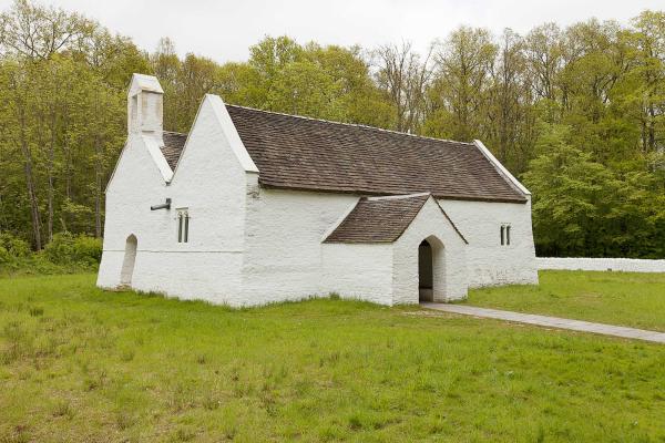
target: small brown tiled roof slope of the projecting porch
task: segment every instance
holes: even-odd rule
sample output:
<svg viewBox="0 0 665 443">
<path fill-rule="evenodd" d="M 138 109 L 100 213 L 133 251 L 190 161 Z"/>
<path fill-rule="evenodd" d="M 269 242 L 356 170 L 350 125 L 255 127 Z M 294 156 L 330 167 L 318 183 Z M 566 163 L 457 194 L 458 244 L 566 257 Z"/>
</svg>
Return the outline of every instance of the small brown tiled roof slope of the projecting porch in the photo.
<svg viewBox="0 0 665 443">
<path fill-rule="evenodd" d="M 392 243 L 407 230 L 429 197 L 362 197 L 324 243 Z"/>
</svg>

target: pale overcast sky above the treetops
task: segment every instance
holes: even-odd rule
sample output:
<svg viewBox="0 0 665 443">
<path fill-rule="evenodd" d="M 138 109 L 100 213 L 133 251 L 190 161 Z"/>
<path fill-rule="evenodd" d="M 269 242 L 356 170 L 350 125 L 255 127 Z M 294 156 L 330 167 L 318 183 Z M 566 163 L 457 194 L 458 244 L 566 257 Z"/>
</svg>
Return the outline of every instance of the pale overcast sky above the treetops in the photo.
<svg viewBox="0 0 665 443">
<path fill-rule="evenodd" d="M 298 42 L 371 48 L 410 41 L 423 51 L 434 39 L 469 24 L 495 33 L 524 33 L 555 21 L 562 25 L 592 17 L 628 23 L 644 9 L 665 9 L 663 0 L 42 0 L 94 18 L 111 31 L 152 51 L 161 37 L 178 53 L 218 62 L 246 60 L 247 48 L 264 35 L 287 34 Z M 4 10 L 11 0 L 0 0 Z"/>
</svg>

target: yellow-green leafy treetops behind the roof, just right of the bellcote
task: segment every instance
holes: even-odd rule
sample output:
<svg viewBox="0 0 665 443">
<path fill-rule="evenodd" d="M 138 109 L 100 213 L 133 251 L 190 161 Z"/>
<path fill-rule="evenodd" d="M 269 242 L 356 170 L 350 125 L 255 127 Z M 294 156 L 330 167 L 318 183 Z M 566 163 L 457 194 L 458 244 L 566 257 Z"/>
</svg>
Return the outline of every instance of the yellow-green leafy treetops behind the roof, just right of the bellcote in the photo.
<svg viewBox="0 0 665 443">
<path fill-rule="evenodd" d="M 151 62 L 166 94 L 165 126 L 188 131 L 205 93 L 268 111 L 389 124 L 390 105 L 358 48 L 300 45 L 287 37 L 266 37 L 249 52 L 246 63 L 218 65 L 193 54 L 180 60 L 173 43 L 163 40 Z"/>
</svg>

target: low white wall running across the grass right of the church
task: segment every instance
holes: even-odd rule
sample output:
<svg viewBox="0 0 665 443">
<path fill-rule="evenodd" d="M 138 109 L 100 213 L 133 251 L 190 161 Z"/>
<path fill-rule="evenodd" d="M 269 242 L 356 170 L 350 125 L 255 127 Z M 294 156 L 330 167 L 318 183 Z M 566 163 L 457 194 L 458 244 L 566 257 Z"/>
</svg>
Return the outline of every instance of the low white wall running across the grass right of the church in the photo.
<svg viewBox="0 0 665 443">
<path fill-rule="evenodd" d="M 645 260 L 638 258 L 539 257 L 535 261 L 539 269 L 665 272 L 665 260 Z"/>
</svg>

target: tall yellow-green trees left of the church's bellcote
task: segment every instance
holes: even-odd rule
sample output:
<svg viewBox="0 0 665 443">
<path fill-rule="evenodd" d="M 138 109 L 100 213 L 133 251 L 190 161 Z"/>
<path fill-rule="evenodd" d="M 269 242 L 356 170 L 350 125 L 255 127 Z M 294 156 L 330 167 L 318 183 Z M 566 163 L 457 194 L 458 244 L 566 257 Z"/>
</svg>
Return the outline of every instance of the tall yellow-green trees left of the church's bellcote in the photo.
<svg viewBox="0 0 665 443">
<path fill-rule="evenodd" d="M 27 0 L 2 13 L 0 230 L 34 249 L 61 230 L 101 236 L 105 182 L 125 138 L 125 87 L 146 70 L 131 41 L 79 14 Z"/>
</svg>

